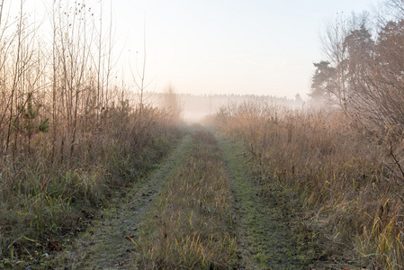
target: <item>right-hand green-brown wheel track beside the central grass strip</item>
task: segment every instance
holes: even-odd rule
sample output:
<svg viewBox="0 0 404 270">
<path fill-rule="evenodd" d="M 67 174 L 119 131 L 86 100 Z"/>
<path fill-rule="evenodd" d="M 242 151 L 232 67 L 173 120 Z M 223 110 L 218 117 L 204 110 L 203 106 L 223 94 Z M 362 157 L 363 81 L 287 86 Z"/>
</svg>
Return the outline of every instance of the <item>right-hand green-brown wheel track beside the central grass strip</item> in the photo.
<svg viewBox="0 0 404 270">
<path fill-rule="evenodd" d="M 291 197 L 271 182 L 265 183 L 269 192 L 263 193 L 263 184 L 248 173 L 243 147 L 217 138 L 234 194 L 240 268 L 311 269 L 316 257 L 311 232 L 295 219 Z"/>
</svg>

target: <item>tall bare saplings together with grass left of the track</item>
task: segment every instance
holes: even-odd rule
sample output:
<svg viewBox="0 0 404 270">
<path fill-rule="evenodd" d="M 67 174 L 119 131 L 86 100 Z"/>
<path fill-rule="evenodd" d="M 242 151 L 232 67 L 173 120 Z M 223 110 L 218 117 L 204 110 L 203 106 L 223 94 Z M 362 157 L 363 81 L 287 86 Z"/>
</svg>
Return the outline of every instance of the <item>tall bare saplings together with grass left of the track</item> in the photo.
<svg viewBox="0 0 404 270">
<path fill-rule="evenodd" d="M 0 1 L 0 268 L 62 248 L 179 134 L 120 82 L 103 2 L 51 1 L 37 22 Z"/>
</svg>

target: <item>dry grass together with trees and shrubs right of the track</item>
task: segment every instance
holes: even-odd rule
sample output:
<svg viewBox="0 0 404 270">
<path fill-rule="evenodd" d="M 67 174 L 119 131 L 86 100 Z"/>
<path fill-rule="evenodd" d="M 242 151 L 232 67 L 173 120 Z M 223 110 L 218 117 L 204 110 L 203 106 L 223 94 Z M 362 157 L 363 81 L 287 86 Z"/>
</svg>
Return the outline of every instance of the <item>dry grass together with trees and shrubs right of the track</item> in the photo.
<svg viewBox="0 0 404 270">
<path fill-rule="evenodd" d="M 223 106 L 215 123 L 269 177 L 301 194 L 330 261 L 402 269 L 404 2 L 382 6 L 373 22 L 339 14 L 328 24 L 310 93 L 322 107 L 252 100 Z"/>
</svg>

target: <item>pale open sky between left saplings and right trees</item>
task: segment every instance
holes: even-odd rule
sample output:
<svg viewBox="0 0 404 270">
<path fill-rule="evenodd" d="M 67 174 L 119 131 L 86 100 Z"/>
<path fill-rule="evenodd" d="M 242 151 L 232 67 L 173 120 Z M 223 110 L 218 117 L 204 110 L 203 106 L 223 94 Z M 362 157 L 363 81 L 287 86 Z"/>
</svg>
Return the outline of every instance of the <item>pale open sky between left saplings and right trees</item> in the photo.
<svg viewBox="0 0 404 270">
<path fill-rule="evenodd" d="M 45 0 L 31 1 L 38 9 Z M 104 11 L 109 1 L 103 1 Z M 370 10 L 372 3 L 113 0 L 114 55 L 121 55 L 117 67 L 128 74 L 130 67 L 140 69 L 146 24 L 150 91 L 172 83 L 181 93 L 304 97 L 310 91 L 312 63 L 322 59 L 319 33 L 326 22 L 337 13 L 348 17 L 353 11 Z"/>
</svg>

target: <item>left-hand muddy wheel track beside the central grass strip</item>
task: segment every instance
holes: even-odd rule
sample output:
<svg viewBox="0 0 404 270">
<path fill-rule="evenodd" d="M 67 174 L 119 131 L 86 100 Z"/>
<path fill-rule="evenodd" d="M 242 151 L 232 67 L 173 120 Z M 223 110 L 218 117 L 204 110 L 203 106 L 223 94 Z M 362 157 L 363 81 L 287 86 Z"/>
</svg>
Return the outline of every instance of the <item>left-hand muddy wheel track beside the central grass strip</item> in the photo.
<svg viewBox="0 0 404 270">
<path fill-rule="evenodd" d="M 141 216 L 156 200 L 168 175 L 181 162 L 189 143 L 188 135 L 145 183 L 135 186 L 123 202 L 103 211 L 102 219 L 87 229 L 71 250 L 64 251 L 58 257 L 57 268 L 133 269 L 129 265 L 130 254 L 134 250 L 130 238 L 136 238 L 141 227 Z"/>
</svg>

